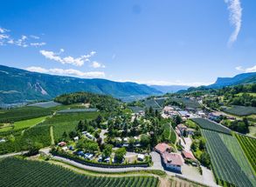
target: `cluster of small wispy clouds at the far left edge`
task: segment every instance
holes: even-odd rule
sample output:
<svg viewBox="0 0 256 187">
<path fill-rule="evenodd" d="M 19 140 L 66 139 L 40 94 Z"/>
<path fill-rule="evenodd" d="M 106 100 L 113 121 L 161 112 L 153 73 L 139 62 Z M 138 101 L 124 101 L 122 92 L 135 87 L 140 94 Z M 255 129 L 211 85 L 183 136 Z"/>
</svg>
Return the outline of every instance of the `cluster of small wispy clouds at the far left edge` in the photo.
<svg viewBox="0 0 256 187">
<path fill-rule="evenodd" d="M 40 39 L 40 37 L 34 35 L 31 35 L 30 37 L 22 35 L 15 39 L 10 36 L 10 30 L 0 27 L 0 45 L 17 45 L 24 48 L 28 46 L 38 47 L 45 45 L 44 42 L 34 42 L 34 40 L 38 41 L 38 39 Z"/>
</svg>

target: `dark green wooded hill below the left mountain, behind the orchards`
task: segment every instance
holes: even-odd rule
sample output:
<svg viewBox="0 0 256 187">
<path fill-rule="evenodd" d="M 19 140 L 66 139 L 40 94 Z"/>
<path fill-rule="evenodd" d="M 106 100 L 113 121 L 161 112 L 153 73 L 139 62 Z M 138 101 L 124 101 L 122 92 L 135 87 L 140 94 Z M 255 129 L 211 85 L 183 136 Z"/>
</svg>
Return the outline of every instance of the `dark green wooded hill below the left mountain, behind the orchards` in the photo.
<svg viewBox="0 0 256 187">
<path fill-rule="evenodd" d="M 63 94 L 56 97 L 54 101 L 60 104 L 90 104 L 91 108 L 97 108 L 104 111 L 113 111 L 120 104 L 120 101 L 114 97 L 88 92 Z"/>
</svg>

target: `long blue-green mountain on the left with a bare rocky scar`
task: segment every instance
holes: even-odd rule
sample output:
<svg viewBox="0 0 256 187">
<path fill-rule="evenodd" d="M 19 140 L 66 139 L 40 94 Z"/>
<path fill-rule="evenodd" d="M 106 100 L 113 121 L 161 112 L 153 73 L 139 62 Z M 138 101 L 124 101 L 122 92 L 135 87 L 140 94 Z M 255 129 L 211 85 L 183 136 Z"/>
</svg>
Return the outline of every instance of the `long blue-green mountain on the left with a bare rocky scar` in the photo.
<svg viewBox="0 0 256 187">
<path fill-rule="evenodd" d="M 0 104 L 48 100 L 76 91 L 106 94 L 118 98 L 162 93 L 144 84 L 118 83 L 98 78 L 53 76 L 0 65 Z"/>
</svg>

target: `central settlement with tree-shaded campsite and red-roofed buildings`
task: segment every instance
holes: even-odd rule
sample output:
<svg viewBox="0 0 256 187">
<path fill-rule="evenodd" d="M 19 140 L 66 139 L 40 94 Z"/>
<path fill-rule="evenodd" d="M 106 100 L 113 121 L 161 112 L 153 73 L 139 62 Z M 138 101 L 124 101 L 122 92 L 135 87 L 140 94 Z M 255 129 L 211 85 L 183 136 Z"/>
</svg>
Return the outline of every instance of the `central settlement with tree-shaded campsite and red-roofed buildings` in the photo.
<svg viewBox="0 0 256 187">
<path fill-rule="evenodd" d="M 209 184 L 214 184 L 212 171 L 200 163 L 200 159 L 197 159 L 200 155 L 194 152 L 195 156 L 190 148 L 193 142 L 197 142 L 197 137 L 193 138 L 193 136 L 198 133 L 197 125 L 190 119 L 197 117 L 214 119 L 214 117 L 218 118 L 223 114 L 207 112 L 201 108 L 181 110 L 173 105 L 164 106 L 163 110 L 159 112 L 161 117 L 171 120 L 175 120 L 176 117 L 180 119 L 175 128 L 170 125 L 170 131 L 175 133 L 176 141 L 174 143 L 159 142 L 154 146 L 153 150 L 148 149 L 150 144 L 148 130 L 143 131 L 143 128 L 146 127 L 142 125 L 149 123 L 143 118 L 145 115 L 144 110 L 139 110 L 132 113 L 130 118 L 127 117 L 134 124 L 134 126 L 127 127 L 127 133 L 124 133 L 124 130 L 111 130 L 111 133 L 109 133 L 109 129 L 102 129 L 99 131 L 100 133 L 95 133 L 99 130 L 98 128 L 91 132 L 81 131 L 82 137 L 76 136 L 73 137 L 72 141 L 59 142 L 56 150 L 66 152 L 76 158 L 80 157 L 80 159 L 85 161 L 82 163 L 89 163 L 95 167 L 149 167 L 150 169 L 165 170 L 170 175 L 180 175 L 201 183 L 209 180 Z M 110 120 L 110 123 L 109 121 L 103 123 L 114 124 L 117 120 L 116 118 L 114 121 Z M 143 119 L 143 124 L 136 123 L 136 121 L 141 119 Z M 114 126 L 114 128 L 118 129 L 118 125 Z M 131 133 L 133 130 L 134 133 Z M 100 150 L 96 148 L 94 150 L 93 148 L 87 149 L 85 147 L 81 149 L 77 146 L 81 140 L 84 141 L 85 139 L 86 143 L 94 144 L 91 147 L 97 146 L 99 138 L 101 143 L 107 144 L 107 146 L 100 148 Z M 62 155 L 57 154 L 57 156 Z"/>
</svg>

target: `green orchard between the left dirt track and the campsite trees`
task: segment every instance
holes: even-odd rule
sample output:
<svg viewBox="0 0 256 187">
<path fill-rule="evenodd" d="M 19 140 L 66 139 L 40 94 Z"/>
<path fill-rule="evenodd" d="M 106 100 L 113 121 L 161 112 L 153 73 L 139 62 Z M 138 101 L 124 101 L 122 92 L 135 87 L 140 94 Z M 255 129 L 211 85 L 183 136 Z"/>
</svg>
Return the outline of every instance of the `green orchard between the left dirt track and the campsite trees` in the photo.
<svg viewBox="0 0 256 187">
<path fill-rule="evenodd" d="M 69 133 L 75 130 L 80 120 L 92 120 L 98 117 L 99 114 L 100 112 L 59 113 L 53 117 L 49 117 L 42 125 L 48 127 L 53 126 L 54 138 L 58 140 L 65 131 Z"/>
</svg>

